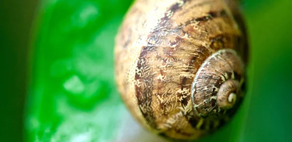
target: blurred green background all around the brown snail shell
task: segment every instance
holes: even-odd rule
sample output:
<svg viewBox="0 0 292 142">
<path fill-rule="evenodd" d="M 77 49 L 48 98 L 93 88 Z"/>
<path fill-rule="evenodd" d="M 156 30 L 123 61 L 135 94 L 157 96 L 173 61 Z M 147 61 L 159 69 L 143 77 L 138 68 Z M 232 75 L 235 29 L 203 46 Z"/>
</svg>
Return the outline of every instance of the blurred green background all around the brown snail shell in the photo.
<svg viewBox="0 0 292 142">
<path fill-rule="evenodd" d="M 165 142 L 133 120 L 114 82 L 114 37 L 132 0 L 0 2 L 3 142 Z M 242 0 L 248 93 L 198 142 L 292 142 L 291 7 Z"/>
</svg>

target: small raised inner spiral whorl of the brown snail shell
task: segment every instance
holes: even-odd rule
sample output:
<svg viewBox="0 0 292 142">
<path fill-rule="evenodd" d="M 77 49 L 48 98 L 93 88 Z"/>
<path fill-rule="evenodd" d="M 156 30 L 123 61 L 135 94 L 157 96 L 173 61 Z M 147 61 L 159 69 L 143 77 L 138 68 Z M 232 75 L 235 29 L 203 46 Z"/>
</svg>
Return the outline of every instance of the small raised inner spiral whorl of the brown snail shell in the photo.
<svg viewBox="0 0 292 142">
<path fill-rule="evenodd" d="M 240 100 L 243 66 L 237 53 L 222 49 L 207 58 L 192 83 L 192 102 L 198 116 L 220 116 Z"/>
</svg>

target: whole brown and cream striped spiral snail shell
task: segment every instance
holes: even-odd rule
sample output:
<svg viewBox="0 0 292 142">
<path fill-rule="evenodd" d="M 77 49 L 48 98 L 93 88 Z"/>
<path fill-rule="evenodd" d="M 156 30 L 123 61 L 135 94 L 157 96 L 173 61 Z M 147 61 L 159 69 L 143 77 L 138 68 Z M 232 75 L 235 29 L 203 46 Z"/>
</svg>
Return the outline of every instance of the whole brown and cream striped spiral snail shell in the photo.
<svg viewBox="0 0 292 142">
<path fill-rule="evenodd" d="M 237 112 L 248 43 L 237 0 L 136 0 L 118 31 L 115 80 L 146 129 L 199 139 Z"/>
</svg>

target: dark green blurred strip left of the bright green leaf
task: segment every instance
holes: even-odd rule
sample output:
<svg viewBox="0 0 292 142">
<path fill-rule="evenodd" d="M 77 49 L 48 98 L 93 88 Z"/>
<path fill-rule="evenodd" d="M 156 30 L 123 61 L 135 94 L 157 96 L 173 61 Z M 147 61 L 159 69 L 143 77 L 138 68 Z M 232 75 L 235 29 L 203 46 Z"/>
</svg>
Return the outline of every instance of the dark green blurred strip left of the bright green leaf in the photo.
<svg viewBox="0 0 292 142">
<path fill-rule="evenodd" d="M 0 0 L 0 138 L 22 142 L 27 54 L 37 0 Z M 23 8 L 25 7 L 25 8 Z"/>
</svg>

